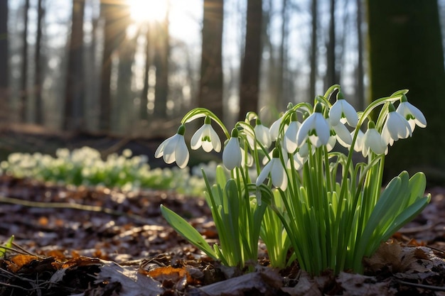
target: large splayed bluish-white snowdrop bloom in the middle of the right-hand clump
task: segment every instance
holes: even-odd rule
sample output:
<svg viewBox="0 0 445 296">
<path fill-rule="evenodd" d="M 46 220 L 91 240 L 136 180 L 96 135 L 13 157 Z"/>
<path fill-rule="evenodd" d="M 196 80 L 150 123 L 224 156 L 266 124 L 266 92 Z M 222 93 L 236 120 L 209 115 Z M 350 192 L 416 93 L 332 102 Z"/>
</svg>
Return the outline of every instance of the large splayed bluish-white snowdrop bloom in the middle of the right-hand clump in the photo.
<svg viewBox="0 0 445 296">
<path fill-rule="evenodd" d="M 321 113 L 321 108 L 321 104 L 316 104 L 313 114 L 301 124 L 298 133 L 296 133 L 296 143 L 299 147 L 303 145 L 308 137 L 316 148 L 328 143 L 331 128 Z"/>
</svg>

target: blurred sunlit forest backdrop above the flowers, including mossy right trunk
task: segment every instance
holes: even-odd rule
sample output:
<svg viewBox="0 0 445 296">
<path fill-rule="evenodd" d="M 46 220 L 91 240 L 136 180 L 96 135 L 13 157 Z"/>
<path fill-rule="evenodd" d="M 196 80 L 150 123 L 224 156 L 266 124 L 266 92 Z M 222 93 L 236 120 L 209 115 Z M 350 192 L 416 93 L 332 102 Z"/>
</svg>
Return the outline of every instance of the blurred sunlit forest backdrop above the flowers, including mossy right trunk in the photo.
<svg viewBox="0 0 445 296">
<path fill-rule="evenodd" d="M 334 83 L 358 110 L 407 88 L 429 126 L 388 168 L 441 175 L 444 16 L 442 0 L 4 0 L 0 123 L 162 138 L 195 106 L 270 124 Z"/>
</svg>

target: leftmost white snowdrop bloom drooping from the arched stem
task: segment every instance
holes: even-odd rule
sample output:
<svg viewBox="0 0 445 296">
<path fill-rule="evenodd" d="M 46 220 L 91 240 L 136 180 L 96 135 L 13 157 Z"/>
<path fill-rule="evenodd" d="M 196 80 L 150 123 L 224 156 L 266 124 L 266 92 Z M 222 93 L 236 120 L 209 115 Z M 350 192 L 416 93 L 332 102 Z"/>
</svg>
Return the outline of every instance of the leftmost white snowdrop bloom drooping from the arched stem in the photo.
<svg viewBox="0 0 445 296">
<path fill-rule="evenodd" d="M 155 158 L 163 157 L 163 161 L 166 163 L 174 163 L 179 168 L 186 168 L 188 163 L 188 149 L 186 140 L 184 140 L 184 133 L 186 132 L 186 126 L 181 125 L 178 128 L 176 135 L 171 136 L 159 145 L 154 153 Z"/>
</svg>

